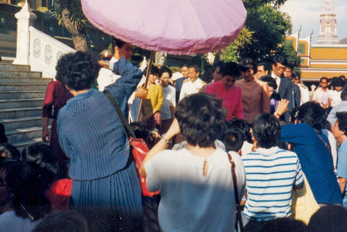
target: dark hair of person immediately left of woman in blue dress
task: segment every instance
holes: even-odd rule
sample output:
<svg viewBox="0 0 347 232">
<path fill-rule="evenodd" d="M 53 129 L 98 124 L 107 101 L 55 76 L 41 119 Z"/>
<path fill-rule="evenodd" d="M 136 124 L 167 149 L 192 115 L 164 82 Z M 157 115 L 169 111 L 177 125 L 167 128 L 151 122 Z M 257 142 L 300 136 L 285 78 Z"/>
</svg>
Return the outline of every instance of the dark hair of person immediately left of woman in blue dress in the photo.
<svg viewBox="0 0 347 232">
<path fill-rule="evenodd" d="M 46 170 L 46 182 L 48 185 L 58 178 L 59 166 L 56 153 L 47 144 L 42 142 L 24 147 L 21 160 L 26 163 L 35 163 Z"/>
</svg>

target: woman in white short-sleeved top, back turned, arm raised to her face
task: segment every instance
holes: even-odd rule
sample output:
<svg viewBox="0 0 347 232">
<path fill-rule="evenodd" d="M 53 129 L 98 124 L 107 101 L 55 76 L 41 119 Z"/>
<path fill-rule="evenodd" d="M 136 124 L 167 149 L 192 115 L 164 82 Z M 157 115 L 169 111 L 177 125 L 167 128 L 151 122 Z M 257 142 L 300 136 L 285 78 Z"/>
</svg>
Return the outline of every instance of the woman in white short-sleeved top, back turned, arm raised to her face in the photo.
<svg viewBox="0 0 347 232">
<path fill-rule="evenodd" d="M 169 131 L 144 159 L 140 173 L 150 191 L 160 190 L 158 217 L 162 231 L 234 231 L 235 194 L 228 155 L 216 148 L 226 113 L 221 100 L 192 94 L 178 103 Z M 187 149 L 167 149 L 182 133 Z M 231 151 L 236 165 L 239 198 L 245 192 L 244 165 Z"/>
</svg>

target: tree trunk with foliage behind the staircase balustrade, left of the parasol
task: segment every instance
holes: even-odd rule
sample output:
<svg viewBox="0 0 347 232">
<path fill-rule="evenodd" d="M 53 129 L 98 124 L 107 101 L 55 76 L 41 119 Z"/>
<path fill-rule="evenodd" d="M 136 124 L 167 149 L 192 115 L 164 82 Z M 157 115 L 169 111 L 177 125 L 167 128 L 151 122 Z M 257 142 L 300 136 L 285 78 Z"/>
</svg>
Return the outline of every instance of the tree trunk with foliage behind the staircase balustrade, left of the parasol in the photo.
<svg viewBox="0 0 347 232">
<path fill-rule="evenodd" d="M 71 33 L 74 47 L 77 51 L 87 51 L 88 40 L 85 32 L 87 19 L 83 15 L 80 0 L 59 0 L 53 10 L 53 17 L 56 17 L 59 25 L 64 25 Z"/>
</svg>

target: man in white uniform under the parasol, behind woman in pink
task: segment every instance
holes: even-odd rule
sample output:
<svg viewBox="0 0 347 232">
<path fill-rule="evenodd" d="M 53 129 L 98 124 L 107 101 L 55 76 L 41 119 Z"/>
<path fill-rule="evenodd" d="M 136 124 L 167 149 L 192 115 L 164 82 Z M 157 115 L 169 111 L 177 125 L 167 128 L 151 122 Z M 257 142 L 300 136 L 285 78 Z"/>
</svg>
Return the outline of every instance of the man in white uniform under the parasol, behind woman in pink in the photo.
<svg viewBox="0 0 347 232">
<path fill-rule="evenodd" d="M 183 81 L 182 89 L 180 90 L 180 100 L 189 96 L 190 94 L 198 93 L 198 91 L 206 85 L 205 81 L 202 81 L 201 78 L 198 78 L 200 74 L 200 67 L 195 64 L 188 65 L 188 78 Z"/>
</svg>

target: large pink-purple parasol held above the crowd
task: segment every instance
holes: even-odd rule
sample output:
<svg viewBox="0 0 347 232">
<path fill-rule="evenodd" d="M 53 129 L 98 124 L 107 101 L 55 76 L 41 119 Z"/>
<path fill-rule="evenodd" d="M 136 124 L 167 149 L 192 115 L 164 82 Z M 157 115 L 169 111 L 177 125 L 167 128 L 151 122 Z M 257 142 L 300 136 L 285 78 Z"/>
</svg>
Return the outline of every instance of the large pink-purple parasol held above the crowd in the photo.
<svg viewBox="0 0 347 232">
<path fill-rule="evenodd" d="M 101 31 L 142 49 L 173 55 L 217 51 L 244 26 L 241 0 L 81 0 Z"/>
</svg>

